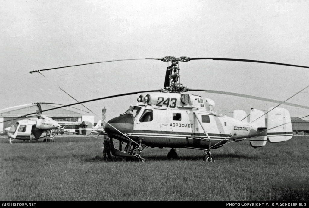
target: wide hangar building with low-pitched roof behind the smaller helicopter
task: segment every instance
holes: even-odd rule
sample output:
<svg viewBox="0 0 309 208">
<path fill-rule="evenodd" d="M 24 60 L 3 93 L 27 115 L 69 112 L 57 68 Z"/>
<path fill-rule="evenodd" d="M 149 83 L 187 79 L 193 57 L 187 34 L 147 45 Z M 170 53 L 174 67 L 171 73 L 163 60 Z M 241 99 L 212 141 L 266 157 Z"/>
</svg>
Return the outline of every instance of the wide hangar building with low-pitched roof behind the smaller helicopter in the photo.
<svg viewBox="0 0 309 208">
<path fill-rule="evenodd" d="M 43 111 L 54 108 L 54 107 L 56 106 L 41 103 L 41 108 Z M 16 117 L 30 114 L 36 111 L 37 111 L 36 103 L 32 104 L 31 106 L 23 105 L 23 106 L 16 106 L 16 107 L 11 107 L 11 108 L 0 110 L 0 132 L 2 132 L 5 128 L 10 127 L 16 121 L 24 119 L 24 118 L 16 119 Z M 75 111 L 79 111 L 79 112 L 75 112 Z M 82 119 L 82 117 L 84 117 L 84 115 L 82 115 L 82 110 L 76 109 L 75 111 L 67 110 L 64 108 L 58 108 L 55 110 L 43 112 L 43 115 L 49 116 L 56 121 L 74 121 L 74 122 L 83 121 L 84 119 Z M 33 114 L 33 116 L 35 115 L 36 114 Z M 93 121 L 92 121 L 92 124 L 93 124 Z"/>
</svg>

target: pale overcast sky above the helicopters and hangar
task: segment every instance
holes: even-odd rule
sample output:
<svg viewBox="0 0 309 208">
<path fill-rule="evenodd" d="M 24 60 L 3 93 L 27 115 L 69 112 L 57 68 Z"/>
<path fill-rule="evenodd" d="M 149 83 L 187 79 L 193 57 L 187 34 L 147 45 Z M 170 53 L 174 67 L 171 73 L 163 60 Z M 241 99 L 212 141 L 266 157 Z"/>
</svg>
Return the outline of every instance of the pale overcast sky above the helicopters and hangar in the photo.
<svg viewBox="0 0 309 208">
<path fill-rule="evenodd" d="M 32 102 L 75 103 L 160 89 L 167 63 L 133 60 L 42 72 L 115 59 L 164 56 L 253 59 L 309 66 L 308 1 L 5 1 L 0 6 L 0 109 Z M 284 101 L 309 85 L 308 69 L 199 60 L 180 64 L 196 89 Z M 194 93 L 194 92 L 193 92 Z M 215 111 L 232 115 L 276 104 L 211 93 Z M 309 106 L 309 89 L 287 102 Z M 111 119 L 138 95 L 87 103 Z M 292 117 L 309 110 L 284 106 Z M 83 107 L 80 107 L 83 108 Z M 84 109 L 84 108 L 83 108 Z M 48 113 L 46 113 L 48 114 Z M 99 118 L 95 118 L 95 121 Z"/>
</svg>

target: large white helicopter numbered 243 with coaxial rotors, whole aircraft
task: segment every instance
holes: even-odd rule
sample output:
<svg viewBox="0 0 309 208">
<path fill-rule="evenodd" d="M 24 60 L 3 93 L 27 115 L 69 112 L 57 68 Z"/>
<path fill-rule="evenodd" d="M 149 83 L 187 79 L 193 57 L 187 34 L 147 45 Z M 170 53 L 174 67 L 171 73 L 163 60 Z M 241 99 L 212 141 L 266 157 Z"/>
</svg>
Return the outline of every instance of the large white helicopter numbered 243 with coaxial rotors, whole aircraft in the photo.
<svg viewBox="0 0 309 208">
<path fill-rule="evenodd" d="M 185 56 L 179 58 L 166 56 L 159 59 L 150 59 L 171 63 L 171 65 L 166 69 L 164 87 L 162 89 L 124 93 L 84 101 L 92 102 L 101 99 L 142 93 L 138 96 L 137 103 L 130 106 L 124 114 L 110 119 L 107 122 L 104 121 L 104 131 L 110 139 L 112 154 L 114 156 L 138 158 L 141 162 L 144 162 L 145 159 L 142 158 L 141 155 L 143 150 L 147 147 L 171 148 L 170 152 L 167 154 L 167 157 L 170 159 L 175 159 L 178 157 L 176 148 L 190 148 L 205 151 L 203 160 L 206 162 L 213 162 L 214 159 L 210 150 L 222 147 L 234 141 L 239 142 L 249 138 L 250 145 L 257 148 L 266 145 L 267 141 L 270 143 L 278 143 L 288 141 L 292 138 L 293 130 L 290 113 L 286 109 L 278 106 L 284 104 L 309 109 L 308 106 L 288 103 L 286 102 L 287 100 L 282 102 L 223 91 L 190 89 L 179 82 L 180 62 L 209 59 L 309 68 L 300 65 L 247 59 L 189 58 Z M 126 60 L 140 59 L 122 59 L 113 61 Z M 40 73 L 45 70 L 47 71 L 86 64 L 34 70 L 30 73 Z M 252 108 L 249 115 L 247 115 L 243 110 L 235 110 L 233 117 L 228 117 L 226 115 L 219 115 L 214 112 L 215 102 L 212 99 L 189 94 L 188 91 L 228 94 L 270 101 L 279 104 L 274 108 L 270 108 L 267 113 Z M 84 102 L 78 102 L 66 106 Z M 267 125 L 265 124 L 266 114 L 268 114 Z M 250 119 L 247 121 L 249 116 Z"/>
</svg>

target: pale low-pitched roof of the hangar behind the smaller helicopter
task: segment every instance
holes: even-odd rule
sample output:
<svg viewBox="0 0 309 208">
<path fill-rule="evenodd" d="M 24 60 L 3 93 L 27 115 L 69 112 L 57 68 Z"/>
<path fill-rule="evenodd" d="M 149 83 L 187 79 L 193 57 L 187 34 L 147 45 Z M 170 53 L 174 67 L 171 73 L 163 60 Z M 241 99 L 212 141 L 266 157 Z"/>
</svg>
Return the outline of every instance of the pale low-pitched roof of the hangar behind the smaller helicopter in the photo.
<svg viewBox="0 0 309 208">
<path fill-rule="evenodd" d="M 49 104 L 41 104 L 42 111 L 54 108 L 55 106 Z M 12 107 L 9 109 L 0 110 L 0 117 L 15 117 L 15 116 L 22 116 L 25 114 L 34 113 L 37 111 L 36 104 L 32 106 L 26 107 Z M 77 110 L 78 111 L 78 110 Z M 35 115 L 35 114 L 33 114 Z M 51 116 L 51 117 L 82 117 L 82 113 L 66 110 L 64 108 L 58 108 L 52 111 L 43 112 L 43 115 Z"/>
</svg>

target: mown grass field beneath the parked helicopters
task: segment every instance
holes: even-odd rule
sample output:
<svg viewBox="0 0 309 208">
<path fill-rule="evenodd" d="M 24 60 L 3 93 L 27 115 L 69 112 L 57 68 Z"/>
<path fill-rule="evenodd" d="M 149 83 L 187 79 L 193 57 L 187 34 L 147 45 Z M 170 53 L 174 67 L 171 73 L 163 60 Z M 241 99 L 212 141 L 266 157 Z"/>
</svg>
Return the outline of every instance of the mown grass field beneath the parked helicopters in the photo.
<svg viewBox="0 0 309 208">
<path fill-rule="evenodd" d="M 0 137 L 0 201 L 309 201 L 309 137 L 254 149 L 249 141 L 213 150 L 144 150 L 145 163 L 104 162 L 102 138 L 54 143 Z"/>
</svg>

